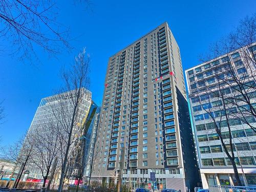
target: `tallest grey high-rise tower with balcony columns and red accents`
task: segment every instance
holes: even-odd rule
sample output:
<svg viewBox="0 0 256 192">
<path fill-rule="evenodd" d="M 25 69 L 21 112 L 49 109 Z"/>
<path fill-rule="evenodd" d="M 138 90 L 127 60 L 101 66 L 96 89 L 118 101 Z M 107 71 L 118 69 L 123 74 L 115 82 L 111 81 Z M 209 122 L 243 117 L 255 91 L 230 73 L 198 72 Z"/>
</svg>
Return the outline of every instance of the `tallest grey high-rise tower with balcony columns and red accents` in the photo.
<svg viewBox="0 0 256 192">
<path fill-rule="evenodd" d="M 120 167 L 121 148 L 124 164 Z M 199 172 L 180 49 L 164 23 L 111 56 L 95 146 L 93 179 L 132 188 L 194 190 Z"/>
</svg>

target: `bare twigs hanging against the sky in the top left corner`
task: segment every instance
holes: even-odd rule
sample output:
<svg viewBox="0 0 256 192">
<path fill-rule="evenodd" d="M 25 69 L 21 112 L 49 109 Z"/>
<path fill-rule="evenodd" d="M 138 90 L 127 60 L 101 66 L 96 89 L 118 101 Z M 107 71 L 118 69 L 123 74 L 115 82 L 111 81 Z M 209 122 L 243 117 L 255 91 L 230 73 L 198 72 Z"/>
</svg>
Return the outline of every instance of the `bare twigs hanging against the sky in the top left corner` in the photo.
<svg viewBox="0 0 256 192">
<path fill-rule="evenodd" d="M 56 8 L 54 0 L 0 1 L 0 37 L 10 40 L 13 53 L 22 58 L 36 55 L 36 47 L 50 54 L 71 48 L 67 28 L 56 21 Z"/>
</svg>

